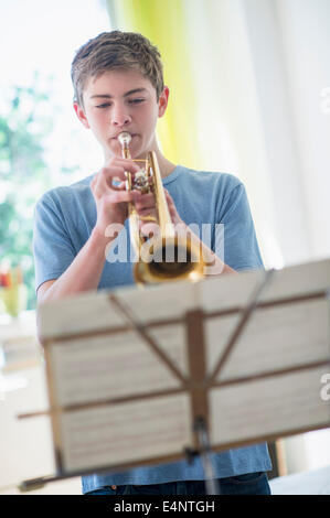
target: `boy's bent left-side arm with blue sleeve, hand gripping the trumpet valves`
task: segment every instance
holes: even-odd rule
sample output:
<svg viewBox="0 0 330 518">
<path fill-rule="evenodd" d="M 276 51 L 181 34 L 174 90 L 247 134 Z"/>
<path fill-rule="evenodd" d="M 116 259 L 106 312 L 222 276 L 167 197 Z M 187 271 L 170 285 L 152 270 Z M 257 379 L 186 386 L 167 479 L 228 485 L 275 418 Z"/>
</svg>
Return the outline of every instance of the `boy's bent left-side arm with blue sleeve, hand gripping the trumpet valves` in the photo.
<svg viewBox="0 0 330 518">
<path fill-rule="evenodd" d="M 34 259 L 38 283 L 38 302 L 43 303 L 67 295 L 96 290 L 106 260 L 106 249 L 111 242 L 106 237 L 109 225 L 124 225 L 127 202 L 136 193 L 127 192 L 125 184 L 113 186 L 113 179 L 125 180 L 125 171 L 137 172 L 138 166 L 128 160 L 114 158 L 93 179 L 91 190 L 96 204 L 95 227 L 76 253 L 63 226 L 55 204 L 42 202 L 36 207 L 34 228 Z M 50 265 L 50 262 L 52 265 Z"/>
</svg>

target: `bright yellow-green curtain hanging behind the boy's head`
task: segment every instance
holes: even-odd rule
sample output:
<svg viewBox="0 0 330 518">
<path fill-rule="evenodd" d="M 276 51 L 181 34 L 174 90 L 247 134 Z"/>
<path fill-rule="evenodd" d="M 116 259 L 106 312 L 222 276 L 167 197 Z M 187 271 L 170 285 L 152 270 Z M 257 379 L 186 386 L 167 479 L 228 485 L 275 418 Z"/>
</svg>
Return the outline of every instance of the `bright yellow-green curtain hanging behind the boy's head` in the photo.
<svg viewBox="0 0 330 518">
<path fill-rule="evenodd" d="M 167 114 L 158 121 L 158 139 L 174 163 L 198 169 L 195 98 L 191 54 L 181 0 L 107 0 L 113 29 L 140 32 L 159 48 L 170 88 Z"/>
</svg>

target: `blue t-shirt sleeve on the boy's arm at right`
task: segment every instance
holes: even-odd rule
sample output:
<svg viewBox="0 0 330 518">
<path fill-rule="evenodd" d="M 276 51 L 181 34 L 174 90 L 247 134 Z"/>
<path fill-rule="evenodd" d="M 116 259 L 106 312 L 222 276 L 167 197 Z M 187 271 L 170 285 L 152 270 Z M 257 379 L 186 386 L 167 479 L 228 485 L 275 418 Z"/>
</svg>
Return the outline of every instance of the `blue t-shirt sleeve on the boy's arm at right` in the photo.
<svg viewBox="0 0 330 518">
<path fill-rule="evenodd" d="M 242 183 L 231 191 L 221 213 L 224 262 L 236 271 L 264 268 L 246 191 Z"/>
</svg>

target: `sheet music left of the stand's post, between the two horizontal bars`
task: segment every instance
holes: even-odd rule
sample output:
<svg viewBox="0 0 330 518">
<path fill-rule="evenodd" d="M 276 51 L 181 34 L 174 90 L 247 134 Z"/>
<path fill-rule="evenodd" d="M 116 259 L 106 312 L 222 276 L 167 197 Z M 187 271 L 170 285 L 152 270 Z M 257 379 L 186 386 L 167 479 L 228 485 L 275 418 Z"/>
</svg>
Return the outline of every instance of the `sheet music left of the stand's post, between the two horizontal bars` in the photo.
<svg viewBox="0 0 330 518">
<path fill-rule="evenodd" d="M 187 371 L 183 326 L 150 334 L 175 365 Z M 180 387 L 180 380 L 132 331 L 58 342 L 51 346 L 51 366 L 60 406 Z"/>
</svg>

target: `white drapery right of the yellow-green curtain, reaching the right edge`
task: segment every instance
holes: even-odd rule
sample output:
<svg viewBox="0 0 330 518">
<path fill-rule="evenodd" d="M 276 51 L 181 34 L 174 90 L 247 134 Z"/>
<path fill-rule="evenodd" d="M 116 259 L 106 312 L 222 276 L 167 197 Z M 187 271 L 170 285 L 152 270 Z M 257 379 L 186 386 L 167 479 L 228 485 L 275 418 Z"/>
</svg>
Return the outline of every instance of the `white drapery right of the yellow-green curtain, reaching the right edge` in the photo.
<svg viewBox="0 0 330 518">
<path fill-rule="evenodd" d="M 328 257 L 330 2 L 184 6 L 203 168 L 245 183 L 267 267 Z"/>
</svg>

